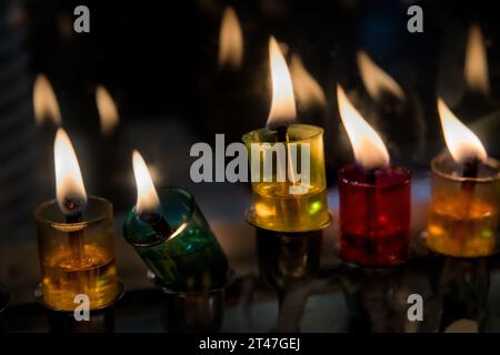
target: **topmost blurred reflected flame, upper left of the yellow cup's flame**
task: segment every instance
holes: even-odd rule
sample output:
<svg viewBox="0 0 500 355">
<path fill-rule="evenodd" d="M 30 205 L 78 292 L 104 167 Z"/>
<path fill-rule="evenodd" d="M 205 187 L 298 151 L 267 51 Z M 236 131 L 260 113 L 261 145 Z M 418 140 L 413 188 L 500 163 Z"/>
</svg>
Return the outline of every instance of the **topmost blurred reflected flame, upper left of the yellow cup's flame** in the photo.
<svg viewBox="0 0 500 355">
<path fill-rule="evenodd" d="M 227 7 L 219 34 L 219 68 L 240 69 L 243 62 L 243 34 L 233 8 Z"/>
</svg>

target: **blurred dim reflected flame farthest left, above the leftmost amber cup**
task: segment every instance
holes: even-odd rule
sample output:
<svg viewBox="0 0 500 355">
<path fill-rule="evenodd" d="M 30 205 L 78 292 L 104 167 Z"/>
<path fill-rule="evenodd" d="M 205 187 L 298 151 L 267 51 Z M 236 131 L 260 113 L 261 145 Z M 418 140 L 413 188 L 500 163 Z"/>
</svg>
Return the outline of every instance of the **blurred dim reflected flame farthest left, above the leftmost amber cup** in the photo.
<svg viewBox="0 0 500 355">
<path fill-rule="evenodd" d="M 38 74 L 33 84 L 33 109 L 34 121 L 37 124 L 43 124 L 47 120 L 56 125 L 61 124 L 61 111 L 52 85 L 43 74 Z"/>
</svg>

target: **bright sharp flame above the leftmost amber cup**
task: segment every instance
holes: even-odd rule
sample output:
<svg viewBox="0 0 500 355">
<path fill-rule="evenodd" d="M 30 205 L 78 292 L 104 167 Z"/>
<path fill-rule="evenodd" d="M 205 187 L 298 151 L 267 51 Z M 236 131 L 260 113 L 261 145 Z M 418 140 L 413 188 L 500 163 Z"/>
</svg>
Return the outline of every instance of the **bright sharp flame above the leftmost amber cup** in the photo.
<svg viewBox="0 0 500 355">
<path fill-rule="evenodd" d="M 59 207 L 68 216 L 80 214 L 87 204 L 87 193 L 73 145 L 63 129 L 53 144 L 56 195 Z"/>
</svg>

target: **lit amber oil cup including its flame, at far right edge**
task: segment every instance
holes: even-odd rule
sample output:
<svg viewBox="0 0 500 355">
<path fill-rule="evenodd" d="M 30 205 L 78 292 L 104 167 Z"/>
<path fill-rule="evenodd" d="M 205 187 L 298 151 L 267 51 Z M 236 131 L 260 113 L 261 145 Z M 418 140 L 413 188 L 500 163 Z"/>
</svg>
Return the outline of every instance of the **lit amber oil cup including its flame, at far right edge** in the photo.
<svg viewBox="0 0 500 355">
<path fill-rule="evenodd" d="M 438 111 L 451 159 L 440 155 L 432 162 L 437 179 L 430 203 L 427 245 L 450 256 L 490 255 L 496 251 L 498 216 L 496 185 L 489 183 L 490 179 L 480 176 L 480 169 L 490 166 L 488 153 L 479 138 L 440 98 Z M 454 165 L 450 164 L 451 160 Z M 491 164 L 497 170 L 497 162 Z M 481 185 L 481 192 L 474 191 L 478 181 L 488 182 Z"/>
</svg>

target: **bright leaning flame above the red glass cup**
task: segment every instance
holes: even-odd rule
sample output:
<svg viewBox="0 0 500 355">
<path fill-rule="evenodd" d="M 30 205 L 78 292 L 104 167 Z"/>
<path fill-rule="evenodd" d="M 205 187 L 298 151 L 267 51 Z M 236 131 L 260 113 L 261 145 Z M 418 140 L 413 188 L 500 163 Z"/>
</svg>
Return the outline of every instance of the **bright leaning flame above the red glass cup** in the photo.
<svg viewBox="0 0 500 355">
<path fill-rule="evenodd" d="M 356 110 L 341 85 L 337 85 L 337 100 L 358 164 L 367 170 L 389 165 L 389 153 L 382 139 Z"/>
</svg>

